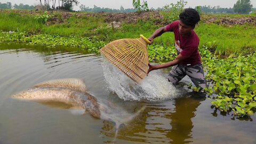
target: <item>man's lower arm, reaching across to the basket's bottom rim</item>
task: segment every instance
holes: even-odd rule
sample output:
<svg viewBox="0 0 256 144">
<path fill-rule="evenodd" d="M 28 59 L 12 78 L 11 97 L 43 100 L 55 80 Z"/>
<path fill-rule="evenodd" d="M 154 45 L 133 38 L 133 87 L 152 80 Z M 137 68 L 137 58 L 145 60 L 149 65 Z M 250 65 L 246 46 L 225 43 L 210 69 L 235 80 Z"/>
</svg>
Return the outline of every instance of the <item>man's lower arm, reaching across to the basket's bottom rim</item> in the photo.
<svg viewBox="0 0 256 144">
<path fill-rule="evenodd" d="M 172 66 L 178 65 L 185 58 L 186 57 L 184 57 L 181 54 L 179 54 L 175 60 L 163 63 L 162 65 L 155 65 L 155 66 L 153 66 L 153 65 L 148 64 L 148 66 L 149 66 L 148 73 L 151 70 L 167 68 L 167 67 L 172 67 Z"/>
</svg>

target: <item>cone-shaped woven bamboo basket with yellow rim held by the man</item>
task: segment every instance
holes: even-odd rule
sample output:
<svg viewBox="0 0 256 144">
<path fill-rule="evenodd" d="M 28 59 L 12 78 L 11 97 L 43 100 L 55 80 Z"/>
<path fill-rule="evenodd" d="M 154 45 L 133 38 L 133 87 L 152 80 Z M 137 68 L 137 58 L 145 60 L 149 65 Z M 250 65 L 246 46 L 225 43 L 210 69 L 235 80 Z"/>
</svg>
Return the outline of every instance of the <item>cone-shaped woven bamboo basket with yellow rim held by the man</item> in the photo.
<svg viewBox="0 0 256 144">
<path fill-rule="evenodd" d="M 102 47 L 100 52 L 126 76 L 139 83 L 147 76 L 148 44 L 150 41 L 140 35 L 140 38 L 117 39 Z"/>
</svg>

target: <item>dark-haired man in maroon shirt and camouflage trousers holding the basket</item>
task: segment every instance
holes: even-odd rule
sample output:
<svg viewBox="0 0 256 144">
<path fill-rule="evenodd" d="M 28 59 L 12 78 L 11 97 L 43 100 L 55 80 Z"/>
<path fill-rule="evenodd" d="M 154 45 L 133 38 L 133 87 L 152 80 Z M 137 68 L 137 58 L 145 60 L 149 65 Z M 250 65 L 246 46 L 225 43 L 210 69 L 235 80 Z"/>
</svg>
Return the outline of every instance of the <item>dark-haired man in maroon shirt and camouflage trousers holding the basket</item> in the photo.
<svg viewBox="0 0 256 144">
<path fill-rule="evenodd" d="M 201 56 L 198 52 L 199 38 L 194 31 L 196 24 L 200 21 L 200 15 L 196 10 L 189 8 L 180 13 L 179 17 L 179 20 L 157 29 L 148 38 L 152 44 L 154 38 L 167 31 L 173 31 L 175 48 L 178 51 L 177 58 L 162 65 L 149 65 L 148 73 L 151 70 L 174 66 L 167 77 L 172 84 L 176 85 L 188 75 L 196 86 L 203 88 L 206 86 L 206 81 Z"/>
</svg>

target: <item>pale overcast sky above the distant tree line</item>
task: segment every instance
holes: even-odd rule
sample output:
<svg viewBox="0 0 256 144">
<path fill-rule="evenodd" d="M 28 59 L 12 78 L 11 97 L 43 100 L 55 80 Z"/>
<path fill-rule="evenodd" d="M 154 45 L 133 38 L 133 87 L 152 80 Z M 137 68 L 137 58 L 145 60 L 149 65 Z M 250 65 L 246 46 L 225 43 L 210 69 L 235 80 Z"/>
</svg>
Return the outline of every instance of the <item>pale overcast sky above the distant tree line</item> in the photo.
<svg viewBox="0 0 256 144">
<path fill-rule="evenodd" d="M 42 0 L 43 1 L 43 0 Z M 58 0 L 57 0 L 58 1 Z M 141 0 L 143 1 L 143 0 Z M 237 0 L 185 0 L 188 2 L 186 7 L 195 7 L 197 5 L 211 5 L 220 7 L 233 7 Z M 1 3 L 11 2 L 14 4 L 29 4 L 35 5 L 39 3 L 39 0 L 0 0 Z M 78 6 L 75 6 L 75 10 L 79 10 L 81 4 L 89 7 L 97 5 L 99 7 L 108 7 L 111 9 L 120 9 L 121 5 L 124 9 L 132 8 L 132 0 L 78 0 Z M 163 7 L 165 4 L 176 3 L 177 0 L 147 0 L 148 7 Z M 253 7 L 256 7 L 256 0 L 251 0 Z"/>
</svg>

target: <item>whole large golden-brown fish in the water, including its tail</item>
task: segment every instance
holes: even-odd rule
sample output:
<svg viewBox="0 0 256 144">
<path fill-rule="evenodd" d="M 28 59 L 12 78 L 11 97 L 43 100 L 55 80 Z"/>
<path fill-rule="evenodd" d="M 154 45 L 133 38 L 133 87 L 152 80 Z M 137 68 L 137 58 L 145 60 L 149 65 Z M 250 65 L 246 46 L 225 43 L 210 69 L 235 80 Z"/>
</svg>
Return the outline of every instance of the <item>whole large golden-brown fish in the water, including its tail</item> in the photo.
<svg viewBox="0 0 256 144">
<path fill-rule="evenodd" d="M 85 110 L 96 118 L 113 121 L 117 125 L 130 121 L 144 109 L 141 108 L 137 113 L 130 114 L 111 102 L 98 102 L 93 95 L 87 92 L 83 80 L 77 78 L 56 79 L 40 83 L 31 89 L 13 95 L 13 98 L 45 104 L 65 103 L 68 106 L 66 108 Z"/>
</svg>

